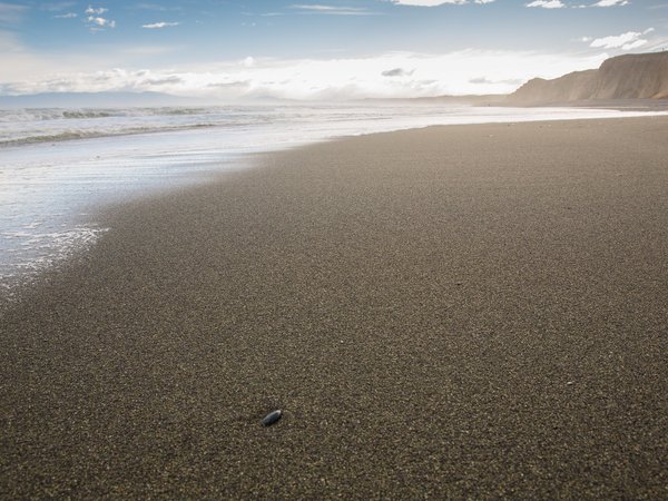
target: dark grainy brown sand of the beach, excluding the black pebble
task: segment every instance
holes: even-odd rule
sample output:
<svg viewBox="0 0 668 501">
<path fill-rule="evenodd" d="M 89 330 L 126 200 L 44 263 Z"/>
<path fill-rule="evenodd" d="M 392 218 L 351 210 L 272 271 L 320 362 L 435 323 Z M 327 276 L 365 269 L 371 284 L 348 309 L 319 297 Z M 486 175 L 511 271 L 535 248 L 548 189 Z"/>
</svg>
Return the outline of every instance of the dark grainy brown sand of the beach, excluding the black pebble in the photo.
<svg viewBox="0 0 668 501">
<path fill-rule="evenodd" d="M 667 159 L 433 127 L 111 212 L 2 313 L 1 498 L 668 498 Z"/>
</svg>

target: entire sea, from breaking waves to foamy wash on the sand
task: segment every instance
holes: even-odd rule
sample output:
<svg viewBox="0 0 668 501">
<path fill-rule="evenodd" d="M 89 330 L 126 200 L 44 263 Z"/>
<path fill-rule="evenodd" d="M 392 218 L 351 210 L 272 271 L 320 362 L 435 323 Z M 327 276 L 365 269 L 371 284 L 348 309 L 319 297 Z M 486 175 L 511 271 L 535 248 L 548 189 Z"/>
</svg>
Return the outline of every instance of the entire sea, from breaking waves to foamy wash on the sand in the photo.
<svg viewBox="0 0 668 501">
<path fill-rule="evenodd" d="M 95 245 L 109 229 L 96 219 L 106 205 L 247 168 L 254 153 L 432 125 L 638 115 L 434 104 L 0 110 L 0 299 Z"/>
</svg>

